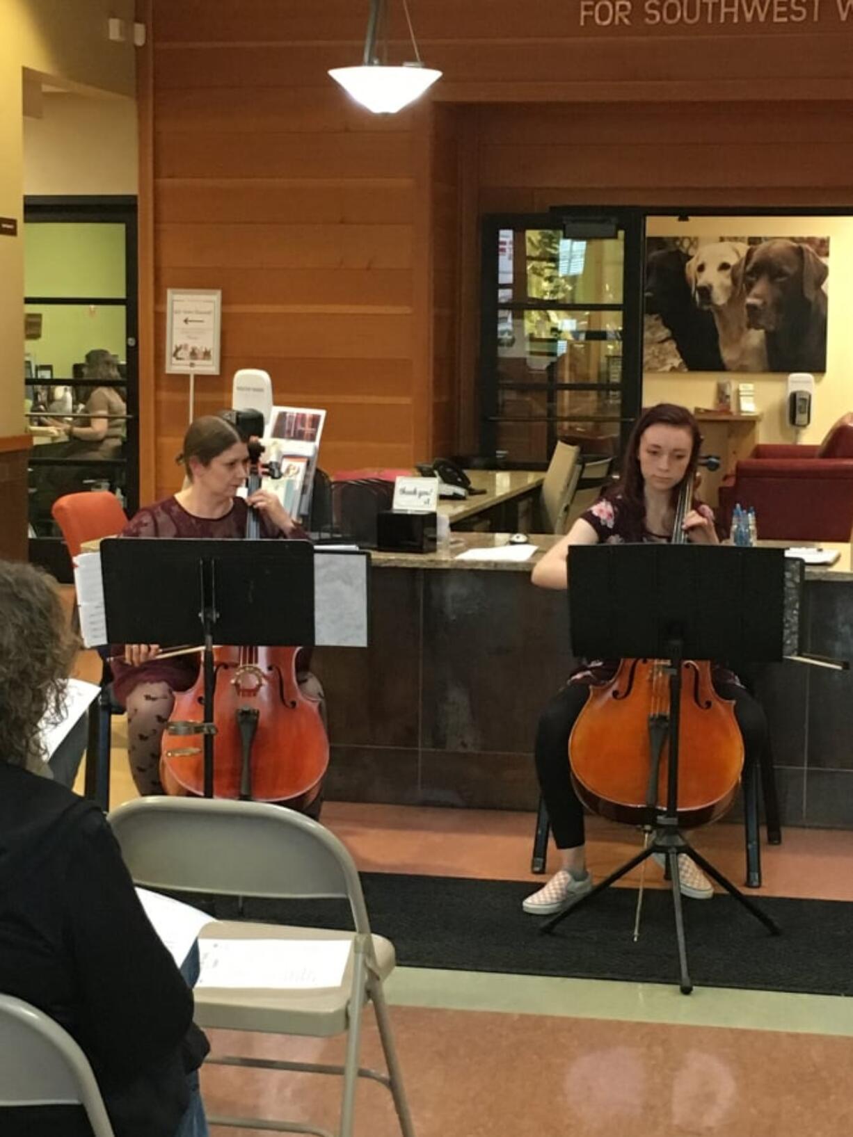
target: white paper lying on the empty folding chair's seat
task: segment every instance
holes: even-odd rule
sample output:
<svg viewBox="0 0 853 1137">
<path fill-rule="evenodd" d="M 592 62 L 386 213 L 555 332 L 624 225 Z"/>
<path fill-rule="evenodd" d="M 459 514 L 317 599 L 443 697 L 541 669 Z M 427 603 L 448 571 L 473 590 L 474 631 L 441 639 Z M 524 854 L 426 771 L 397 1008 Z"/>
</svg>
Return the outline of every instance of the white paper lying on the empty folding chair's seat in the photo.
<svg viewBox="0 0 853 1137">
<path fill-rule="evenodd" d="M 340 987 L 348 939 L 202 939 L 197 987 Z"/>
</svg>

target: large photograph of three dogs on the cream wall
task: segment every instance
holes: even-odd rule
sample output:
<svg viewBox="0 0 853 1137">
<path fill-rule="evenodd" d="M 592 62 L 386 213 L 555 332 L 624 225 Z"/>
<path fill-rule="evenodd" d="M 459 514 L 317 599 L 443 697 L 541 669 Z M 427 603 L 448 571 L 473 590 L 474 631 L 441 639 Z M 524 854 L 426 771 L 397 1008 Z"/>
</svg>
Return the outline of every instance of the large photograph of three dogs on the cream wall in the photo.
<svg viewBox="0 0 853 1137">
<path fill-rule="evenodd" d="M 827 236 L 651 236 L 645 371 L 823 372 Z"/>
</svg>

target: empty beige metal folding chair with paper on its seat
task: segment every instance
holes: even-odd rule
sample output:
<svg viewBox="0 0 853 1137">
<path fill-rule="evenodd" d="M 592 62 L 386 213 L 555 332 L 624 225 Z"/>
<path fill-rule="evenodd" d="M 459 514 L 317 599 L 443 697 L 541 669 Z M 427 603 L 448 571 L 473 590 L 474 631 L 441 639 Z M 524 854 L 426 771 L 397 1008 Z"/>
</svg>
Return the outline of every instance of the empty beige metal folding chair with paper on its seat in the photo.
<svg viewBox="0 0 853 1137">
<path fill-rule="evenodd" d="M 342 1074 L 337 1134 L 305 1122 L 264 1120 L 260 1124 L 257 1118 L 209 1115 L 210 1123 L 351 1137 L 356 1085 L 359 1077 L 366 1077 L 391 1092 L 403 1137 L 414 1137 L 382 989 L 395 966 L 394 945 L 372 935 L 358 872 L 341 841 L 309 818 L 260 802 L 141 798 L 115 810 L 109 822 L 131 875 L 149 888 L 242 897 L 340 897 L 349 902 L 354 932 L 217 921 L 200 936 L 202 949 L 205 939 L 345 939 L 351 949 L 339 986 L 307 990 L 196 988 L 196 1021 L 202 1027 L 310 1037 L 347 1035 L 342 1067 L 243 1056 L 207 1060 L 264 1070 Z M 388 1074 L 358 1065 L 365 1002 L 373 1004 Z"/>
</svg>

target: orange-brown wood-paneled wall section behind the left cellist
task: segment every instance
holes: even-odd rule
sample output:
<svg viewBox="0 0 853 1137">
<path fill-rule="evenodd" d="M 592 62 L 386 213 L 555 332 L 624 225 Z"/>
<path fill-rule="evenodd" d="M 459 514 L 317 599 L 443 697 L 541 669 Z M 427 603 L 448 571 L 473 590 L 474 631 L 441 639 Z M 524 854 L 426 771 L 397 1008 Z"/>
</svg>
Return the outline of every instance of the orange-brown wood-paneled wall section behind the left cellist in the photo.
<svg viewBox="0 0 853 1137">
<path fill-rule="evenodd" d="M 223 292 L 222 374 L 197 379 L 197 414 L 230 405 L 238 367 L 263 367 L 276 401 L 328 409 L 329 471 L 405 465 L 429 448 L 431 366 L 414 315 L 428 288 L 416 197 L 429 188 L 429 106 L 388 117 L 355 107 L 325 75 L 355 43 L 230 45 L 252 15 L 254 40 L 285 34 L 270 25 L 274 8 L 154 5 L 151 493 L 179 479 L 188 417 L 187 380 L 163 367 L 173 287 Z M 339 39 L 330 25 L 317 34 Z"/>
</svg>

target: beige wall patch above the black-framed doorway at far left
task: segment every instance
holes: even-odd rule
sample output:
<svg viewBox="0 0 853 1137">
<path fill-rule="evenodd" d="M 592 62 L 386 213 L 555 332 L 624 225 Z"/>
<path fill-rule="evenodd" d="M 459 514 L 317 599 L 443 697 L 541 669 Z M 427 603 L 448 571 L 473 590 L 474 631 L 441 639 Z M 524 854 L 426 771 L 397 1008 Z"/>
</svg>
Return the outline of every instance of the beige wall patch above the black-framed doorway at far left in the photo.
<svg viewBox="0 0 853 1137">
<path fill-rule="evenodd" d="M 135 99 L 45 94 L 24 119 L 26 194 L 135 194 L 138 171 Z"/>
</svg>

